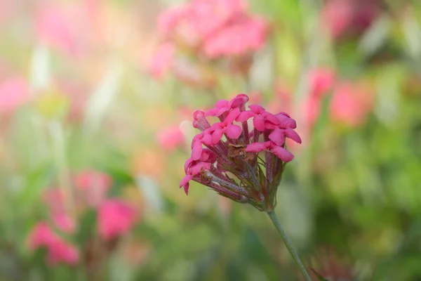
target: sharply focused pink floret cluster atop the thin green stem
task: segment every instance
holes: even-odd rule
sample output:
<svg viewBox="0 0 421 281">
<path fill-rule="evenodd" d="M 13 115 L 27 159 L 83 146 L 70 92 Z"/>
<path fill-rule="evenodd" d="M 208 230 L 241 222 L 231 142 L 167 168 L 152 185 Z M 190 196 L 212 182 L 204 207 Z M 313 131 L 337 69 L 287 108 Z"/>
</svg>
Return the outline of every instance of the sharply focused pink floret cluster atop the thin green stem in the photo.
<svg viewBox="0 0 421 281">
<path fill-rule="evenodd" d="M 189 181 L 196 181 L 236 202 L 269 211 L 276 205 L 283 169 L 294 158 L 286 149 L 286 138 L 297 143 L 301 139 L 288 114 L 273 115 L 260 105 L 246 110 L 247 102 L 248 96 L 239 94 L 218 101 L 207 112 L 194 112 L 193 126 L 201 133 L 193 138 L 192 157 L 185 163 L 180 188 L 187 194 Z M 208 116 L 220 122 L 211 125 Z M 249 119 L 253 126 L 249 127 Z"/>
</svg>

